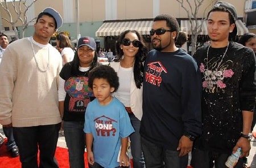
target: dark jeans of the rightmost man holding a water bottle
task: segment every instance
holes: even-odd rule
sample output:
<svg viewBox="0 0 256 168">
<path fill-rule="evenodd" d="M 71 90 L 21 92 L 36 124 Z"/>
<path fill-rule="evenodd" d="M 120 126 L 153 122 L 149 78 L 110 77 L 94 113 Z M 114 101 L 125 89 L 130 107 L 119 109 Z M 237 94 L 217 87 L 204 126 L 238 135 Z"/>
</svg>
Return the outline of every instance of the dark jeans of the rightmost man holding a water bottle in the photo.
<svg viewBox="0 0 256 168">
<path fill-rule="evenodd" d="M 194 148 L 192 150 L 191 166 L 193 166 L 193 168 L 212 168 L 214 165 L 216 168 L 222 168 L 226 167 L 225 162 L 228 160 L 228 157 L 229 154 L 209 152 Z M 243 158 L 240 158 L 234 168 L 243 167 L 243 162 Z"/>
</svg>

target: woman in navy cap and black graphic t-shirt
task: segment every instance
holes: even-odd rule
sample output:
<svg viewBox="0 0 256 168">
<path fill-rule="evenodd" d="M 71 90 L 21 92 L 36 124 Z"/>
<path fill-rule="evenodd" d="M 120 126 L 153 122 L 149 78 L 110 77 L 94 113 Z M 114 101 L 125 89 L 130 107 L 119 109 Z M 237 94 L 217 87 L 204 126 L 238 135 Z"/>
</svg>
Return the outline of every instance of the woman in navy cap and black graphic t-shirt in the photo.
<svg viewBox="0 0 256 168">
<path fill-rule="evenodd" d="M 81 37 L 73 61 L 66 63 L 60 72 L 59 110 L 70 167 L 85 167 L 84 115 L 88 103 L 94 99 L 88 87 L 88 74 L 96 65 L 96 42 L 92 37 Z"/>
</svg>

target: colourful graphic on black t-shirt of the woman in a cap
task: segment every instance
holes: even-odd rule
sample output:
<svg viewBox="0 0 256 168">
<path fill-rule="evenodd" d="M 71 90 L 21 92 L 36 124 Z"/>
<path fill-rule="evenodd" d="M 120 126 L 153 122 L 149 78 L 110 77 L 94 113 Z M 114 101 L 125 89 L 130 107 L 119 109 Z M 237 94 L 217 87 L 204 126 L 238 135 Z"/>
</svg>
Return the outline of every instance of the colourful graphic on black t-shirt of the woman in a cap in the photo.
<svg viewBox="0 0 256 168">
<path fill-rule="evenodd" d="M 88 77 L 75 76 L 65 81 L 65 91 L 70 96 L 69 111 L 84 112 L 93 96 L 92 90 L 88 87 Z"/>
</svg>

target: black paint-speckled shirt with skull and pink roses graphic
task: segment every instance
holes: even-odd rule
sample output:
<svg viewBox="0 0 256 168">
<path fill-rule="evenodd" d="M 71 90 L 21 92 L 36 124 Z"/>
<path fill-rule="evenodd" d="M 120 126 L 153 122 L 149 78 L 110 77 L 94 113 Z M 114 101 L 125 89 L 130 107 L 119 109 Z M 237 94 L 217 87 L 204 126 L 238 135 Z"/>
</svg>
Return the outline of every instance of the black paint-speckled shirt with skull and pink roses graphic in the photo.
<svg viewBox="0 0 256 168">
<path fill-rule="evenodd" d="M 235 42 L 225 51 L 206 45 L 193 57 L 203 82 L 203 134 L 196 146 L 228 154 L 242 131 L 242 110 L 253 111 L 256 88 L 253 51 Z"/>
</svg>

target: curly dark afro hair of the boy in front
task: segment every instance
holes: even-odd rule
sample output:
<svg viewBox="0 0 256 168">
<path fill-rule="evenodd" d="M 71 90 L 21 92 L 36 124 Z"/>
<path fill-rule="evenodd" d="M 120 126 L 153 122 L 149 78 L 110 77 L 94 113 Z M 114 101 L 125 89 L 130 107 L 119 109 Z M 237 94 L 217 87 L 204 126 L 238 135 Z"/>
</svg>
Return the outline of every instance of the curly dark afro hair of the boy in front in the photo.
<svg viewBox="0 0 256 168">
<path fill-rule="evenodd" d="M 110 66 L 100 65 L 93 68 L 93 70 L 89 72 L 88 78 L 88 86 L 90 88 L 93 87 L 93 81 L 96 78 L 106 79 L 110 87 L 114 87 L 114 92 L 119 88 L 119 77 L 117 76 L 117 72 Z"/>
</svg>

